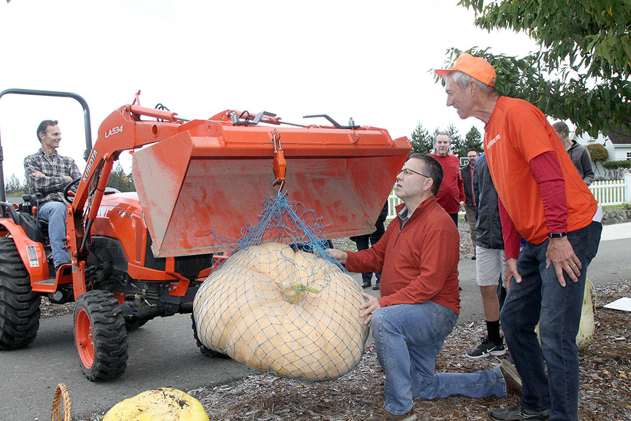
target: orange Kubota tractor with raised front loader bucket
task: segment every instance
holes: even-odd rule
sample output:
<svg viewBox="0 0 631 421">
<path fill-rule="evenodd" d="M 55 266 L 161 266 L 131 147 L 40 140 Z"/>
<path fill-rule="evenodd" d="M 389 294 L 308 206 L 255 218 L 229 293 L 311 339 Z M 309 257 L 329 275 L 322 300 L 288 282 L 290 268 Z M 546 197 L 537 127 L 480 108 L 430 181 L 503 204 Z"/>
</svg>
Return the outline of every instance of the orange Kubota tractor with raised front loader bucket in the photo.
<svg viewBox="0 0 631 421">
<path fill-rule="evenodd" d="M 7 93 L 78 100 L 87 149 L 83 175 L 64 193 L 72 263 L 56 276 L 37 197 L 8 203 L 2 183 L 0 349 L 35 340 L 41 296 L 74 301 L 76 348 L 91 381 L 123 374 L 128 329 L 192 312 L 213 267 L 211 231 L 239 237 L 244 225 L 256 223 L 262 201 L 285 186 L 290 199 L 323 217 L 328 237 L 372 232 L 411 148 L 384 129 L 341 126 L 324 115 L 307 117 L 333 126 L 235 110 L 188 121 L 164 107 L 141 107 L 138 94 L 103 121 L 92 147 L 90 112 L 79 95 L 9 89 L 0 97 Z M 112 166 L 125 150 L 134 151 L 137 193 L 108 192 Z"/>
</svg>

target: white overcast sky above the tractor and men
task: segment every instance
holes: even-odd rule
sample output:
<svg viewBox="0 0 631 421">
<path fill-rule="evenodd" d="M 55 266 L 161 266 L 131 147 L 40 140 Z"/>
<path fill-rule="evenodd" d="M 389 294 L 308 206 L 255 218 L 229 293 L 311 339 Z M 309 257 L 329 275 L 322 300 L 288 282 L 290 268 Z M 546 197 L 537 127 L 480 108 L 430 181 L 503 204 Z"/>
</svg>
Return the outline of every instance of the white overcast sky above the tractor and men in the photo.
<svg viewBox="0 0 631 421">
<path fill-rule="evenodd" d="M 410 136 L 462 121 L 445 106 L 430 69 L 449 47 L 491 47 L 496 54 L 536 49 L 524 34 L 487 33 L 452 0 L 194 1 L 12 0 L 0 3 L 0 91 L 75 92 L 100 123 L 141 90 L 141 104 L 165 104 L 180 116 L 225 109 L 274 112 L 300 122 L 329 114 L 346 123 Z M 71 99 L 0 98 L 4 176 L 23 179 L 23 158 L 39 143 L 43 119 L 58 119 L 59 153 L 81 170 L 85 140 Z M 128 167 L 129 156 L 121 161 Z"/>
</svg>

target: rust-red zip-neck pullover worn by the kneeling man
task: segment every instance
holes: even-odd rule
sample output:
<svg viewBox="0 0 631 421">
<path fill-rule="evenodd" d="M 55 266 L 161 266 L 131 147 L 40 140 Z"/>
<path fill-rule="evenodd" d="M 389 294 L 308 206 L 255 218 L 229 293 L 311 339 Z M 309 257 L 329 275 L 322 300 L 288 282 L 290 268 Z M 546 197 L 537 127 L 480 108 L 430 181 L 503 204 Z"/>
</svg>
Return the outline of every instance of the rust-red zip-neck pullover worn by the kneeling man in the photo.
<svg viewBox="0 0 631 421">
<path fill-rule="evenodd" d="M 397 212 L 403 206 L 397 206 Z M 403 228 L 396 217 L 377 244 L 348 252 L 346 270 L 382 270 L 381 307 L 433 301 L 459 314 L 459 253 L 454 221 L 431 197 L 416 208 Z"/>
</svg>

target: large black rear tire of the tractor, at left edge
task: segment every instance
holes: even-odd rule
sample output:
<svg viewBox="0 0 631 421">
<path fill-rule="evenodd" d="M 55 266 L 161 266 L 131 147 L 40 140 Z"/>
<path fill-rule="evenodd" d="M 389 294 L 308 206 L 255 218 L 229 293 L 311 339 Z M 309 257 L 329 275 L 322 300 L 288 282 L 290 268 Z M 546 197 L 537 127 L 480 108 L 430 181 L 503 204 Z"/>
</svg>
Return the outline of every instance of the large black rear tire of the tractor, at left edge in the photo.
<svg viewBox="0 0 631 421">
<path fill-rule="evenodd" d="M 40 296 L 13 239 L 0 237 L 0 349 L 25 347 L 37 336 Z"/>
</svg>

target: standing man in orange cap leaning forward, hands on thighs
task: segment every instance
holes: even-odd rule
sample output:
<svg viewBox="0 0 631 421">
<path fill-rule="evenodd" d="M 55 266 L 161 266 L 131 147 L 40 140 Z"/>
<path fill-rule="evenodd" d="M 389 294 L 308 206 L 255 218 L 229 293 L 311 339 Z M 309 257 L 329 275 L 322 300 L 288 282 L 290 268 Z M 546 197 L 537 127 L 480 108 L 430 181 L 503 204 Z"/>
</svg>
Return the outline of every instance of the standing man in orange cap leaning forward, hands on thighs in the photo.
<svg viewBox="0 0 631 421">
<path fill-rule="evenodd" d="M 509 288 L 500 320 L 523 392 L 518 405 L 490 417 L 578 420 L 575 338 L 587 265 L 602 230 L 593 221 L 594 196 L 541 110 L 497 95 L 489 62 L 463 53 L 436 73 L 444 78 L 447 106 L 461 119 L 485 122 L 484 151 L 499 198 Z M 526 239 L 521 252 L 519 235 Z"/>
</svg>

